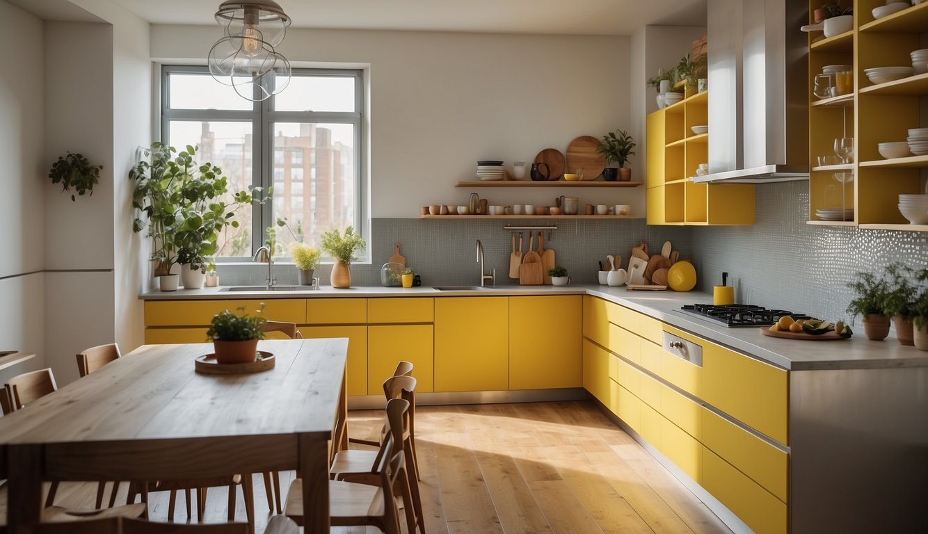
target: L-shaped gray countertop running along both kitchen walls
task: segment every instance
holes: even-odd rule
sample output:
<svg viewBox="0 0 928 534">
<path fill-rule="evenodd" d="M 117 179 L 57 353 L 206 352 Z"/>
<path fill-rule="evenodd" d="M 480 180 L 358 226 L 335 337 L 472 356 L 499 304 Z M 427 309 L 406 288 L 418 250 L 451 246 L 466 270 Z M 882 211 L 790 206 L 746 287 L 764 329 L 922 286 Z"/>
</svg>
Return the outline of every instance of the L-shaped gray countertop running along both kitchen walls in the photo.
<svg viewBox="0 0 928 534">
<path fill-rule="evenodd" d="M 680 312 L 684 304 L 711 302 L 707 293 L 690 291 L 628 291 L 608 286 L 497 286 L 483 289 L 438 290 L 433 287 L 358 286 L 334 289 L 323 286 L 306 291 L 228 291 L 226 287 L 183 289 L 176 292 L 149 291 L 147 300 L 196 299 L 312 299 L 312 298 L 385 298 L 385 297 L 462 297 L 527 295 L 592 295 L 650 315 L 719 345 L 754 356 L 759 360 L 793 371 L 815 369 L 866 369 L 886 367 L 928 367 L 928 352 L 900 345 L 895 337 L 870 341 L 858 325 L 854 336 L 838 341 L 803 341 L 767 337 L 760 328 L 728 328 L 709 319 Z M 839 319 L 825 317 L 825 319 Z"/>
</svg>

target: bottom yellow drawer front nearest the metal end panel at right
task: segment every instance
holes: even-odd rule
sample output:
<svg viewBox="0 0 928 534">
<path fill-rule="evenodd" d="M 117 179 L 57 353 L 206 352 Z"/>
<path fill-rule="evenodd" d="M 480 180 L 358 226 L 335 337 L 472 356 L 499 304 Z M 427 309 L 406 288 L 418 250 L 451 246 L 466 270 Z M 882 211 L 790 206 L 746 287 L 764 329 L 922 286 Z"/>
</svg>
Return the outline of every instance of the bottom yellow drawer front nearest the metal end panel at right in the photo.
<svg viewBox="0 0 928 534">
<path fill-rule="evenodd" d="M 701 484 L 757 534 L 787 532 L 786 503 L 707 448 L 702 450 Z"/>
</svg>

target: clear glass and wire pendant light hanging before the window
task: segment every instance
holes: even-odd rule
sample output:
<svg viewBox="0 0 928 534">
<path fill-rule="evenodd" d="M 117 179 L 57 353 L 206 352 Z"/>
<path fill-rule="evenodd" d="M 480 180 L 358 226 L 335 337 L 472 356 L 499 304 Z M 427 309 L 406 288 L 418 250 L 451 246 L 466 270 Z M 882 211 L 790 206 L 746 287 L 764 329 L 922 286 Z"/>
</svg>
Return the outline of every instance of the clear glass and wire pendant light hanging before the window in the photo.
<svg viewBox="0 0 928 534">
<path fill-rule="evenodd" d="M 272 0 L 226 0 L 216 11 L 225 35 L 210 49 L 210 73 L 252 102 L 266 100 L 290 83 L 290 61 L 277 52 L 290 17 Z M 257 91 L 255 91 L 257 88 Z"/>
</svg>

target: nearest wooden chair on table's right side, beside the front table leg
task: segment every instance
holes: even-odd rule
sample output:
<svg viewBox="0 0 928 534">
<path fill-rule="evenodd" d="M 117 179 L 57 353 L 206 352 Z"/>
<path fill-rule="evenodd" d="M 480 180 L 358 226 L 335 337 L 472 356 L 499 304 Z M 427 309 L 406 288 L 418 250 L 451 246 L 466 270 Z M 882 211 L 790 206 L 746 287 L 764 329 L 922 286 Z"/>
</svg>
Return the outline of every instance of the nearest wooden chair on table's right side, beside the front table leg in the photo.
<svg viewBox="0 0 928 534">
<path fill-rule="evenodd" d="M 409 502 L 406 464 L 402 448 L 403 418 L 409 402 L 392 399 L 387 402 L 386 439 L 380 446 L 378 464 L 372 475 L 377 486 L 329 480 L 329 516 L 333 527 L 370 526 L 386 534 L 400 534 L 399 510 L 393 489 L 400 488 L 404 502 Z M 303 525 L 303 479 L 290 484 L 286 515 Z"/>
</svg>

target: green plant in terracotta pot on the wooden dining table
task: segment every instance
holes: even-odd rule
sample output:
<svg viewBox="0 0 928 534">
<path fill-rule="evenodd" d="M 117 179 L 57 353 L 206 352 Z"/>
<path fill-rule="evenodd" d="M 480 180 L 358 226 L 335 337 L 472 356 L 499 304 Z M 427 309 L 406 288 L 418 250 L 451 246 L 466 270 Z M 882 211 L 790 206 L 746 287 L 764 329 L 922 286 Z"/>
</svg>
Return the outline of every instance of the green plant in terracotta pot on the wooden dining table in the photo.
<svg viewBox="0 0 928 534">
<path fill-rule="evenodd" d="M 245 307 L 238 307 L 238 315 L 224 310 L 213 315 L 206 335 L 213 340 L 213 351 L 218 363 L 254 362 L 258 355 L 258 340 L 264 339 L 261 327 L 264 319 L 264 302 L 261 308 L 249 315 Z"/>
</svg>

